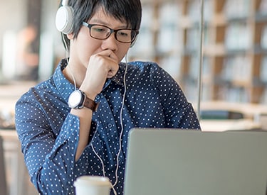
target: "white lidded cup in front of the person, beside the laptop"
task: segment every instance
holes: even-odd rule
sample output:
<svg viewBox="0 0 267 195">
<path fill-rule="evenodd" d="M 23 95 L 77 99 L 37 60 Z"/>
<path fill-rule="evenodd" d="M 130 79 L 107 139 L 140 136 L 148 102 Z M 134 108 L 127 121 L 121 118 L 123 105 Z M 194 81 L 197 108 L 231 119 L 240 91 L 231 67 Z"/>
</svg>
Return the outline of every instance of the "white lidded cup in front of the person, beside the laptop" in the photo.
<svg viewBox="0 0 267 195">
<path fill-rule="evenodd" d="M 111 183 L 108 177 L 84 175 L 73 184 L 76 195 L 110 195 Z"/>
</svg>

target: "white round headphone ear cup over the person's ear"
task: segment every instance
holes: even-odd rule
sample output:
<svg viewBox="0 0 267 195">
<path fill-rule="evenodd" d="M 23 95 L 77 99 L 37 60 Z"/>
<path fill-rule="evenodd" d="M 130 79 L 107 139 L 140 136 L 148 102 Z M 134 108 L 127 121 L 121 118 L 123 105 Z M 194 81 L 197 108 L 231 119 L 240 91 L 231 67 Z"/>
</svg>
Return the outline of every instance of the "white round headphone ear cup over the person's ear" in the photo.
<svg viewBox="0 0 267 195">
<path fill-rule="evenodd" d="M 73 8 L 68 6 L 68 0 L 63 0 L 62 6 L 56 12 L 56 28 L 64 34 L 73 31 Z"/>
</svg>

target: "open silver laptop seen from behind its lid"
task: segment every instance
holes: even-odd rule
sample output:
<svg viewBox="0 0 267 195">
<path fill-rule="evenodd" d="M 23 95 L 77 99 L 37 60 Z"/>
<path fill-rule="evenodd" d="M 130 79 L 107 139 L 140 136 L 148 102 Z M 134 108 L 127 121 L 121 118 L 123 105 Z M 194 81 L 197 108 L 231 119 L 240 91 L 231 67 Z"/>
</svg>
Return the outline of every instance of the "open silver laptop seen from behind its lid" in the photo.
<svg viewBox="0 0 267 195">
<path fill-rule="evenodd" d="M 135 128 L 125 195 L 263 195 L 267 132 Z"/>
</svg>

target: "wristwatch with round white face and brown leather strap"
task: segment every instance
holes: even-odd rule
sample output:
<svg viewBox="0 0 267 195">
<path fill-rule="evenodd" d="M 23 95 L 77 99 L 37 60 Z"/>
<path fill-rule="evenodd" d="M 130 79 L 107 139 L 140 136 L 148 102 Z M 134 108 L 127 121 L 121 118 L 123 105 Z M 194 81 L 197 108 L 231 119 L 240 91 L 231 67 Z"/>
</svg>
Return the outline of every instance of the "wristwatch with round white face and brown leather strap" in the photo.
<svg viewBox="0 0 267 195">
<path fill-rule="evenodd" d="M 92 111 L 98 109 L 98 104 L 92 99 L 89 99 L 83 91 L 75 90 L 68 97 L 68 106 L 70 108 L 80 109 L 83 107 L 89 108 Z"/>
</svg>

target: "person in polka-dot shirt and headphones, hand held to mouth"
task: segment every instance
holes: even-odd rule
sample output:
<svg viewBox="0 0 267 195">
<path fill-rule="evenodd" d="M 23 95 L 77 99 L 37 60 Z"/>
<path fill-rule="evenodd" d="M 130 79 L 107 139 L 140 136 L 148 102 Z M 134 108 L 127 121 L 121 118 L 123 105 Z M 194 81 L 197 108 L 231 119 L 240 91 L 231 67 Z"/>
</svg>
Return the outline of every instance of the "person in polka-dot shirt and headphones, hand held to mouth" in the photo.
<svg viewBox="0 0 267 195">
<path fill-rule="evenodd" d="M 109 177 L 110 193 L 123 194 L 131 128 L 199 129 L 199 121 L 157 64 L 121 62 L 137 38 L 140 1 L 70 0 L 62 9 L 73 17 L 57 18 L 70 56 L 16 104 L 28 172 L 41 194 L 73 194 L 81 175 Z"/>
</svg>

